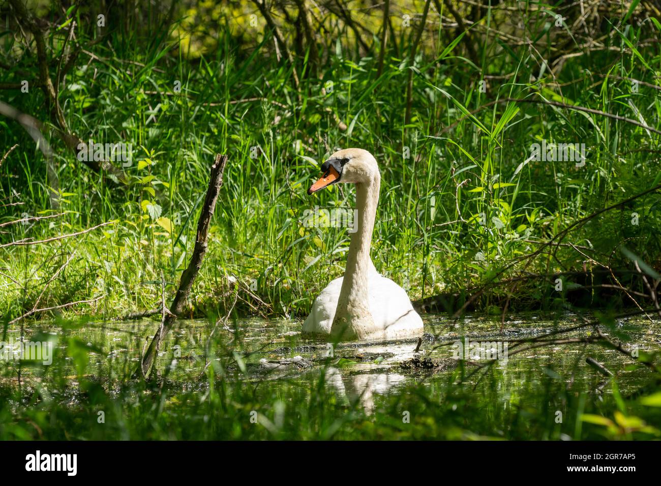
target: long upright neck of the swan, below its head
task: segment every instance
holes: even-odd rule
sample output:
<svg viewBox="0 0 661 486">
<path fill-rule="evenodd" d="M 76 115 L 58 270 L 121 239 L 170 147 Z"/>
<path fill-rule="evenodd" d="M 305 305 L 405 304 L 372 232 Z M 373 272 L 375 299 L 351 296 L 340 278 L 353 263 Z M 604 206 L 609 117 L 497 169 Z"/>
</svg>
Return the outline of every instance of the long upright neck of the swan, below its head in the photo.
<svg viewBox="0 0 661 486">
<path fill-rule="evenodd" d="M 371 237 L 379 202 L 381 176 L 356 184 L 358 230 L 351 235 L 346 271 L 338 299 L 331 334 L 345 333 L 358 339 L 373 331 L 374 321 L 369 312 L 368 282 L 374 265 L 369 257 Z M 355 224 L 356 222 L 354 222 Z"/>
</svg>

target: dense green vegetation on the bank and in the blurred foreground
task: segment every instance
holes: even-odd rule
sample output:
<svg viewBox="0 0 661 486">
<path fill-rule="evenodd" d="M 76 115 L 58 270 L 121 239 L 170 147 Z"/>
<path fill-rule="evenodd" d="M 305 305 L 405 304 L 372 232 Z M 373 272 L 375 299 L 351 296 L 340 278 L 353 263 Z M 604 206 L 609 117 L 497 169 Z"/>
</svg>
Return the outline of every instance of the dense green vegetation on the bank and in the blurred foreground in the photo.
<svg viewBox="0 0 661 486">
<path fill-rule="evenodd" d="M 391 1 L 385 48 L 384 6 L 362 0 L 321 2 L 321 9 L 259 0 L 28 1 L 26 12 L 17 4 L 0 5 L 3 339 L 19 326 L 21 333 L 40 328 L 37 319 L 59 319 L 66 335 L 88 318 L 155 309 L 163 281 L 169 302 L 192 251 L 215 153 L 229 162 L 190 315 L 212 315 L 212 324 L 230 309 L 234 317 L 304 317 L 342 274 L 348 249 L 346 228 L 303 223 L 315 206 L 352 207 L 349 186 L 306 194 L 336 147 L 362 147 L 379 161 L 372 259 L 413 300 L 457 294 L 441 309 L 455 311 L 473 295 L 471 309 L 503 319 L 531 308 L 654 307 L 661 24 L 647 2 L 592 2 L 584 15 L 569 2 Z M 32 28 L 42 32 L 43 52 Z M 42 122 L 44 139 L 35 143 L 34 130 L 19 123 L 25 118 L 7 106 Z M 131 144 L 132 160 L 90 167 L 72 149 L 75 137 Z M 584 144 L 586 159 L 534 160 L 535 143 Z M 52 217 L 25 219 L 44 216 Z M 81 234 L 58 239 L 72 233 Z M 46 239 L 54 240 L 37 243 Z M 68 305 L 79 301 L 91 302 Z M 97 349 L 67 339 L 73 359 Z M 471 386 L 452 385 L 450 374 L 432 387 L 407 384 L 367 415 L 355 403 L 336 407 L 323 380 L 265 390 L 231 380 L 241 339 L 216 335 L 211 343 L 221 364 L 207 368 L 203 384 L 142 393 L 153 385 L 129 380 L 128 361 L 121 372 L 92 378 L 82 378 L 94 373 L 82 366 L 73 376 L 84 398 L 74 407 L 61 406 L 72 386 L 61 360 L 44 387 L 17 389 L 16 369 L 5 368 L 0 395 L 13 398 L 0 405 L 0 438 L 658 433 L 622 423 L 581 432 L 579 409 L 658 423 L 654 407 L 623 401 L 615 379 L 602 403 L 547 373 L 529 405 L 503 408 L 486 392 L 475 401 Z M 490 373 L 486 389 L 498 389 L 502 376 Z M 654 393 L 658 377 L 646 378 L 645 394 Z M 432 406 L 440 397 L 443 405 Z M 185 406 L 167 407 L 172 401 Z M 277 432 L 233 421 L 254 409 L 275 421 L 276 401 L 303 404 Z M 403 401 L 424 421 L 401 428 Z M 555 410 L 549 401 L 572 410 L 562 428 L 542 413 Z M 113 426 L 85 425 L 98 407 Z"/>
</svg>

